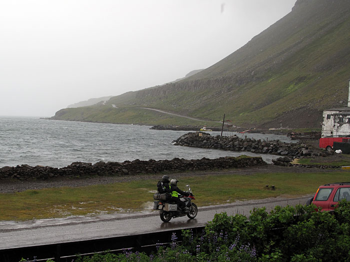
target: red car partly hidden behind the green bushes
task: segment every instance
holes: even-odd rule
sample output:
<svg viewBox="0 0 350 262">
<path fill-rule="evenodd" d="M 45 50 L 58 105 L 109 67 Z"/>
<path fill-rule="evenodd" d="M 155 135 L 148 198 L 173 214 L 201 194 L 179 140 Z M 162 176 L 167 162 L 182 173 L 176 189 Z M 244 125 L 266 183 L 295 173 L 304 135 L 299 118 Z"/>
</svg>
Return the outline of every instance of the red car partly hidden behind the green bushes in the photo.
<svg viewBox="0 0 350 262">
<path fill-rule="evenodd" d="M 317 189 L 313 198 L 309 198 L 306 205 L 313 203 L 321 207 L 321 211 L 330 211 L 336 208 L 339 201 L 350 201 L 350 182 L 325 184 Z"/>
</svg>

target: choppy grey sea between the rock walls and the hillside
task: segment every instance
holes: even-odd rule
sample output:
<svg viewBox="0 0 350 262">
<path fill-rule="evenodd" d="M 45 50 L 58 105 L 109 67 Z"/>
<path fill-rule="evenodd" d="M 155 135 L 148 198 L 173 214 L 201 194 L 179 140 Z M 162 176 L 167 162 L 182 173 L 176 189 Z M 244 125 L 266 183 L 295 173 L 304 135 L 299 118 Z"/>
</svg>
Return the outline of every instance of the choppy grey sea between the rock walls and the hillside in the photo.
<svg viewBox="0 0 350 262">
<path fill-rule="evenodd" d="M 46 120 L 38 117 L 0 117 L 0 167 L 28 164 L 64 167 L 72 162 L 125 160 L 201 159 L 224 156 L 259 156 L 250 152 L 230 152 L 174 146 L 172 141 L 188 131 L 152 130 L 150 126 L 118 125 Z M 219 135 L 220 132 L 209 132 Z M 286 136 L 236 134 L 255 139 L 279 139 Z M 244 138 L 244 137 L 243 137 Z M 275 155 L 261 155 L 270 163 Z"/>
</svg>

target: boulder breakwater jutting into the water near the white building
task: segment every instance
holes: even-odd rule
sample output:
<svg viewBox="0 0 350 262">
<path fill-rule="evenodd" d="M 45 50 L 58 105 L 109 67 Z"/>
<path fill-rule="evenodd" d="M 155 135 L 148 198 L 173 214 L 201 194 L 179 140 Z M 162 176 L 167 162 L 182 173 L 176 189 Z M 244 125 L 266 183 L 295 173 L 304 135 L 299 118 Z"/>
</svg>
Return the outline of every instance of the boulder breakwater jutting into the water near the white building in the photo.
<svg viewBox="0 0 350 262">
<path fill-rule="evenodd" d="M 314 153 L 302 143 L 284 143 L 279 140 L 256 140 L 238 136 L 211 136 L 207 133 L 191 132 L 173 141 L 174 145 L 220 149 L 229 151 L 248 151 L 256 154 L 273 154 L 291 158 L 313 156 L 325 153 Z M 283 164 L 284 165 L 284 164 Z"/>
</svg>

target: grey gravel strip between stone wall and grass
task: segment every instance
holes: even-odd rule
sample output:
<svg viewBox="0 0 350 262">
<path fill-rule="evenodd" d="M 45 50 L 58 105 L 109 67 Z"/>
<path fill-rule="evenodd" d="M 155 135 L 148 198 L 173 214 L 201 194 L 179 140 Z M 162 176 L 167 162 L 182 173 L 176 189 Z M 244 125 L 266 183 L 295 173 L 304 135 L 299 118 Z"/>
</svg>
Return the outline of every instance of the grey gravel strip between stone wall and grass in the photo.
<svg viewBox="0 0 350 262">
<path fill-rule="evenodd" d="M 133 180 L 145 179 L 160 179 L 164 174 L 172 178 L 180 180 L 183 177 L 197 177 L 197 176 L 218 176 L 226 174 L 239 175 L 253 175 L 256 173 L 312 173 L 312 172 L 341 172 L 341 169 L 319 169 L 319 168 L 304 168 L 304 167 L 282 167 L 273 164 L 264 166 L 255 166 L 247 168 L 235 168 L 216 171 L 191 171 L 183 173 L 158 173 L 158 174 L 139 174 L 126 175 L 115 177 L 91 177 L 91 178 L 57 178 L 50 180 L 32 180 L 32 181 L 17 181 L 17 180 L 0 180 L 0 193 L 14 193 L 25 190 L 36 190 L 42 188 L 58 188 L 58 187 L 83 187 L 98 184 L 110 184 L 119 182 L 128 182 Z M 344 171 L 346 172 L 346 171 Z"/>
</svg>

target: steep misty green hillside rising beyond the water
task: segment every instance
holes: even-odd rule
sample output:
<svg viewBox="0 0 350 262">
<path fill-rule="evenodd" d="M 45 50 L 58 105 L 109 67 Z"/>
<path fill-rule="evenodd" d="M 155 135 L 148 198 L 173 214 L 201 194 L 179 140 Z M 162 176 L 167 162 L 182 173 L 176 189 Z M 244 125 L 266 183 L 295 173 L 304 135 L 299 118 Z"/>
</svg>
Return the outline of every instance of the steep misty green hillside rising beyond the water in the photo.
<svg viewBox="0 0 350 262">
<path fill-rule="evenodd" d="M 297 0 L 289 14 L 199 73 L 52 118 L 200 126 L 225 113 L 243 127 L 320 127 L 322 110 L 347 104 L 349 11 L 348 0 Z"/>
</svg>

